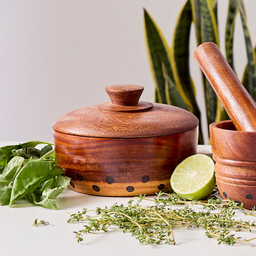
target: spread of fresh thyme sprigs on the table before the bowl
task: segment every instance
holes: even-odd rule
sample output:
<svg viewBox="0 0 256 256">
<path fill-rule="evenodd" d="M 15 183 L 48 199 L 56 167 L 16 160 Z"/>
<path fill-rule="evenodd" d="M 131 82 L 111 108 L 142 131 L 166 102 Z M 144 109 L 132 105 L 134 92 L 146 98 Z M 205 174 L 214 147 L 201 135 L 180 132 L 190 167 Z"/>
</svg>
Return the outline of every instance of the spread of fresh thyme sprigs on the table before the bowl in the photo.
<svg viewBox="0 0 256 256">
<path fill-rule="evenodd" d="M 138 203 L 142 200 L 149 200 L 155 203 L 154 206 L 142 206 L 133 204 L 134 199 Z M 170 205 L 187 204 L 182 209 L 171 209 Z M 202 205 L 202 211 L 194 211 L 189 204 Z M 168 207 L 169 206 L 169 207 Z M 96 216 L 85 215 L 86 208 L 82 212 L 72 214 L 68 222 L 86 221 L 87 225 L 76 234 L 78 242 L 83 241 L 82 236 L 94 231 L 108 231 L 110 226 L 117 226 L 123 232 L 130 232 L 140 243 L 145 244 L 175 244 L 173 229 L 175 228 L 204 228 L 206 236 L 215 238 L 223 244 L 233 245 L 237 241 L 250 244 L 250 240 L 241 239 L 230 234 L 232 231 L 248 230 L 255 228 L 255 221 L 252 223 L 234 220 L 236 209 L 244 209 L 243 204 L 238 205 L 232 201 L 222 200 L 217 196 L 209 196 L 206 200 L 187 201 L 176 194 L 160 192 L 152 200 L 140 195 L 132 198 L 127 206 L 124 204 L 96 209 Z M 219 210 L 216 212 L 216 210 Z"/>
</svg>

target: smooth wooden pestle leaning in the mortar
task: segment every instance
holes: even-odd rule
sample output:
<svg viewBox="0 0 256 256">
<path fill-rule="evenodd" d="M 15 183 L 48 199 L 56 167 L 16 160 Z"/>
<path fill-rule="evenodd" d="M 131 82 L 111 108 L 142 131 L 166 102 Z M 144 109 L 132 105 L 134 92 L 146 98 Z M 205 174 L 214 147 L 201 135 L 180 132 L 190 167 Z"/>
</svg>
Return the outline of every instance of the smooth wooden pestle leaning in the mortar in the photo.
<svg viewBox="0 0 256 256">
<path fill-rule="evenodd" d="M 238 131 L 256 131 L 256 104 L 214 43 L 203 43 L 194 57 Z"/>
</svg>

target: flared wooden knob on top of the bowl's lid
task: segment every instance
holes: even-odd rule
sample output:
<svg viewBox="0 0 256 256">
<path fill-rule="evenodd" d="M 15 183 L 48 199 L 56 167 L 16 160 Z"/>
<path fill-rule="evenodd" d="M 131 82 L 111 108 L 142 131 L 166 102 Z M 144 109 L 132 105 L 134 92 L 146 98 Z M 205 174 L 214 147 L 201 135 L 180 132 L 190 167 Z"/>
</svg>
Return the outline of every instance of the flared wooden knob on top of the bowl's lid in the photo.
<svg viewBox="0 0 256 256">
<path fill-rule="evenodd" d="M 136 106 L 144 87 L 133 84 L 116 84 L 107 86 L 105 90 L 113 105 Z"/>
</svg>

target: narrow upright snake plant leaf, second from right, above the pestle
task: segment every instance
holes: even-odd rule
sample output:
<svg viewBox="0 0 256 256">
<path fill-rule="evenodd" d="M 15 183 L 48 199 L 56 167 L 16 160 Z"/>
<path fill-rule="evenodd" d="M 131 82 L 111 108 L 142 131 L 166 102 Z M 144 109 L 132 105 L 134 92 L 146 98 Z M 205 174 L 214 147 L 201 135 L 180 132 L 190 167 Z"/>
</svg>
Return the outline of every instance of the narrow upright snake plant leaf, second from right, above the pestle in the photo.
<svg viewBox="0 0 256 256">
<path fill-rule="evenodd" d="M 238 13 L 238 6 L 236 0 L 229 0 L 228 3 L 228 17 L 226 23 L 225 33 L 225 48 L 226 48 L 226 59 L 229 66 L 235 71 L 234 60 L 233 60 L 233 40 L 234 40 L 234 28 L 236 15 Z"/>
</svg>

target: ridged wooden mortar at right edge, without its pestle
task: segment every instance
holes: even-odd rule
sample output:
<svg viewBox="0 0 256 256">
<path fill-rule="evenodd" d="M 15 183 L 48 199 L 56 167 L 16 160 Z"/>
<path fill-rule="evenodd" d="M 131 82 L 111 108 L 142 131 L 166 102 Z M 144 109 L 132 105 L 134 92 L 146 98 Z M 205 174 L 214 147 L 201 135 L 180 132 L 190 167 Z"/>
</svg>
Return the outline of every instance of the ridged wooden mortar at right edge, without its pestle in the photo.
<svg viewBox="0 0 256 256">
<path fill-rule="evenodd" d="M 223 199 L 256 207 L 256 132 L 236 131 L 232 121 L 210 124 L 216 183 Z"/>
</svg>

